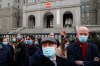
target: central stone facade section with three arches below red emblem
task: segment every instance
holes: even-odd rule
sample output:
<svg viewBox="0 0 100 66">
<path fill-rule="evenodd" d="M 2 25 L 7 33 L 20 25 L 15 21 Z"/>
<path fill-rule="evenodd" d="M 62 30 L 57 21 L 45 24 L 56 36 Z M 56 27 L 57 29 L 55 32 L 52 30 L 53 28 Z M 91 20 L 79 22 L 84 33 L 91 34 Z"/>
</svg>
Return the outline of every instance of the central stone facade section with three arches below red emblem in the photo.
<svg viewBox="0 0 100 66">
<path fill-rule="evenodd" d="M 26 4 L 23 6 L 23 27 L 26 29 L 21 32 L 75 32 L 76 25 L 81 22 L 80 6 L 80 0 L 41 0 Z"/>
</svg>

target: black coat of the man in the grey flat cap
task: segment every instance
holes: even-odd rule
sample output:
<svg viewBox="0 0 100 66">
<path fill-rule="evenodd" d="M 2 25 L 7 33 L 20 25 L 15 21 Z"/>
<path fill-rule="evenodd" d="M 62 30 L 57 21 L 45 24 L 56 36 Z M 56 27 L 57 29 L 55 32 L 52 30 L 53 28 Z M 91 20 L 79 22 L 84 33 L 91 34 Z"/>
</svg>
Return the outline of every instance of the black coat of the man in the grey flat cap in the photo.
<svg viewBox="0 0 100 66">
<path fill-rule="evenodd" d="M 66 59 L 56 56 L 57 66 L 69 66 Z M 46 57 L 41 57 L 33 66 L 55 66 L 54 63 Z"/>
</svg>

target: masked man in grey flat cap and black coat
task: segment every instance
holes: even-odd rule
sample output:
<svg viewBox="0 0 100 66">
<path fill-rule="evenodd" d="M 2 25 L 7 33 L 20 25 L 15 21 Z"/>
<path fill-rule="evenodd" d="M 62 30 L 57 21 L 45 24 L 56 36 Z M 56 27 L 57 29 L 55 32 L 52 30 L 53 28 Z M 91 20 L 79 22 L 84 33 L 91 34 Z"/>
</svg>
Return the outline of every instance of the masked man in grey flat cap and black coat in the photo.
<svg viewBox="0 0 100 66">
<path fill-rule="evenodd" d="M 41 42 L 43 56 L 33 66 L 69 66 L 66 59 L 56 56 L 57 42 L 47 37 Z"/>
</svg>

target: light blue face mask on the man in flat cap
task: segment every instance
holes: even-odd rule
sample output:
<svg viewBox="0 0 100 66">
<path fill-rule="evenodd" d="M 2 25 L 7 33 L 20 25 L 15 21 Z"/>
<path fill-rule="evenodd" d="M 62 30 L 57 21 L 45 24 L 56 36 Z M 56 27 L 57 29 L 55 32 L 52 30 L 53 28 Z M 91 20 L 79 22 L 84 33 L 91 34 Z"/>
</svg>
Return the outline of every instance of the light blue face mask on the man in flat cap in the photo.
<svg viewBox="0 0 100 66">
<path fill-rule="evenodd" d="M 47 58 L 51 58 L 55 56 L 56 54 L 54 47 L 46 47 L 46 48 L 43 48 L 42 50 L 43 50 L 43 55 Z"/>
</svg>

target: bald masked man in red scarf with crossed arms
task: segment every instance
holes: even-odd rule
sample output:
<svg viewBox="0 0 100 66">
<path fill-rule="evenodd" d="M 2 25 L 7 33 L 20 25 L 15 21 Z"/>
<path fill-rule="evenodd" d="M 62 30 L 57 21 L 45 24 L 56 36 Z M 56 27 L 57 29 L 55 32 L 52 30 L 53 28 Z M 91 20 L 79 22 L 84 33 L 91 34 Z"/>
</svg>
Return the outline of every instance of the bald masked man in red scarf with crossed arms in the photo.
<svg viewBox="0 0 100 66">
<path fill-rule="evenodd" d="M 89 29 L 80 27 L 76 41 L 67 47 L 67 59 L 71 66 L 99 66 L 99 53 L 96 45 L 87 42 Z"/>
</svg>

